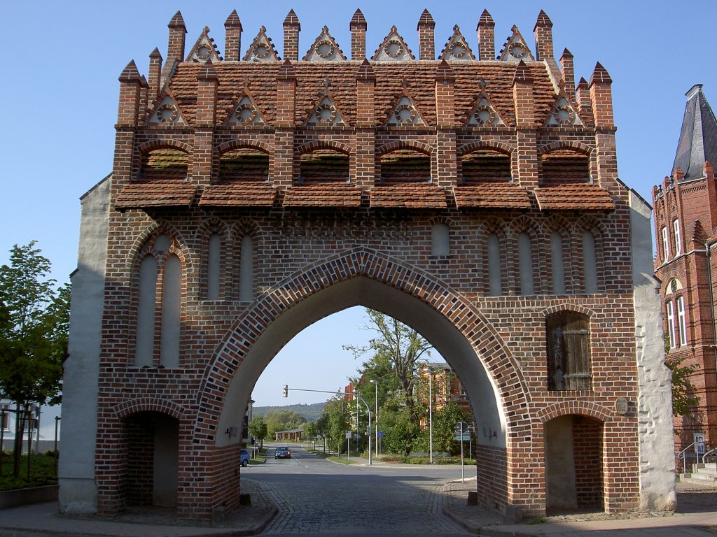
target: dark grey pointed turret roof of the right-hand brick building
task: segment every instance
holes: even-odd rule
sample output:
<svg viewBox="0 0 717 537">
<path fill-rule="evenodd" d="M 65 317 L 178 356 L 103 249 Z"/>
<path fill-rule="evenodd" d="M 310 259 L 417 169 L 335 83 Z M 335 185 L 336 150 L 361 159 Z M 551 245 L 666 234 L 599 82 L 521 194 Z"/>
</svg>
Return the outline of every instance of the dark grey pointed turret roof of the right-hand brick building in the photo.
<svg viewBox="0 0 717 537">
<path fill-rule="evenodd" d="M 702 92 L 702 84 L 695 84 L 685 95 L 687 106 L 673 173 L 680 168 L 685 173 L 683 181 L 688 181 L 703 177 L 706 160 L 717 162 L 717 119 Z"/>
</svg>

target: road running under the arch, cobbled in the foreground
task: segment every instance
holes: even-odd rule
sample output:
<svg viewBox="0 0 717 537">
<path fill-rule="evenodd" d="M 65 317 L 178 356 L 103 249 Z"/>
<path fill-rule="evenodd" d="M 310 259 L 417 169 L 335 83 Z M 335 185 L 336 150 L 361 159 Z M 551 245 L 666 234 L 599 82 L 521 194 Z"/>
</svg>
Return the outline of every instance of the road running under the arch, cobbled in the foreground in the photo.
<svg viewBox="0 0 717 537">
<path fill-rule="evenodd" d="M 292 447 L 292 458 L 250 467 L 280 512 L 262 535 L 465 536 L 442 513 L 440 486 L 460 468 L 342 465 Z"/>
</svg>

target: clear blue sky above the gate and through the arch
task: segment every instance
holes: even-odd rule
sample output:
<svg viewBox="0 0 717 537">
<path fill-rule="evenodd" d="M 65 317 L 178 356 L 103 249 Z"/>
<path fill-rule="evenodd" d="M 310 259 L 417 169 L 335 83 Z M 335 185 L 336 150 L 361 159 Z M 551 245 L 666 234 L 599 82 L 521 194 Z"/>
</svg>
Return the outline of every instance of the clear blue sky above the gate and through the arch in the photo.
<svg viewBox="0 0 717 537">
<path fill-rule="evenodd" d="M 369 54 L 391 24 L 417 52 L 416 24 L 424 7 L 436 21 L 437 52 L 454 24 L 460 25 L 475 51 L 475 26 L 485 8 L 495 20 L 496 51 L 516 24 L 534 53 L 533 26 L 538 11 L 544 9 L 554 22 L 556 58 L 566 47 L 574 54 L 576 79 L 589 80 L 595 62 L 611 75 L 619 176 L 648 201 L 652 185 L 670 173 L 685 92 L 693 84 L 705 84 L 708 100 L 717 106 L 713 52 L 717 2 L 4 1 L 0 2 L 6 49 L 0 84 L 0 263 L 6 262 L 14 243 L 36 239 L 52 261 L 55 277 L 67 281 L 77 260 L 78 198 L 111 171 L 118 75 L 130 59 L 147 74 L 148 54 L 154 47 L 166 57 L 166 25 L 177 9 L 188 29 L 188 51 L 209 26 L 223 53 L 224 21 L 236 8 L 244 27 L 242 54 L 262 24 L 282 54 L 282 21 L 293 8 L 301 22 L 303 56 L 324 24 L 348 54 L 348 22 L 357 7 L 368 21 Z M 300 334 L 257 384 L 257 405 L 323 399 L 303 395 L 284 400 L 280 395 L 288 379 L 297 386 L 307 384 L 308 372 L 315 367 L 335 374 L 318 389 L 343 386 L 359 364 L 341 350 L 341 344 L 366 339 L 361 323 L 359 309 L 331 316 Z M 335 366 L 326 368 L 327 360 Z"/>
</svg>

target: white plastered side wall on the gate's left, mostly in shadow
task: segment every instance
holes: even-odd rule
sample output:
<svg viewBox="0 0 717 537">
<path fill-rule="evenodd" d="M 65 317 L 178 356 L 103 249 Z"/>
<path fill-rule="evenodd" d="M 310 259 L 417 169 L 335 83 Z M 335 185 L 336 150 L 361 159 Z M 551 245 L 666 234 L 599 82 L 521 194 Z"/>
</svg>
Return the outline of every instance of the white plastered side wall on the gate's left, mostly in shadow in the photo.
<svg viewBox="0 0 717 537">
<path fill-rule="evenodd" d="M 105 297 L 110 177 L 80 199 L 80 247 L 72 273 L 69 357 L 62 389 L 60 508 L 97 510 L 95 437 L 98 373 Z"/>
</svg>

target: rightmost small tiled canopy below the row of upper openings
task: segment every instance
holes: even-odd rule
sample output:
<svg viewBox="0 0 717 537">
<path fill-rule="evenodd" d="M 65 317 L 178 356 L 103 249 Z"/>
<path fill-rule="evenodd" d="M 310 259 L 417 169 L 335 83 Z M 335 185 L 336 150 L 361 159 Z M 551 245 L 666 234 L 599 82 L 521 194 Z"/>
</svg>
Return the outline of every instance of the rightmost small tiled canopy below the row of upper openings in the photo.
<svg viewBox="0 0 717 537">
<path fill-rule="evenodd" d="M 546 185 L 535 189 L 541 211 L 614 211 L 612 196 L 588 183 Z"/>
</svg>

